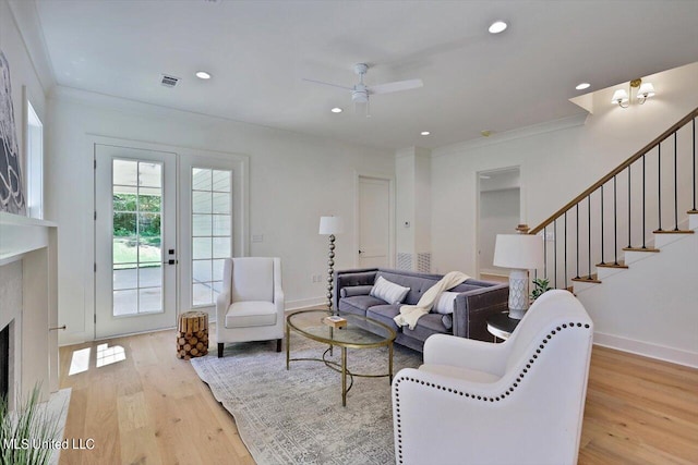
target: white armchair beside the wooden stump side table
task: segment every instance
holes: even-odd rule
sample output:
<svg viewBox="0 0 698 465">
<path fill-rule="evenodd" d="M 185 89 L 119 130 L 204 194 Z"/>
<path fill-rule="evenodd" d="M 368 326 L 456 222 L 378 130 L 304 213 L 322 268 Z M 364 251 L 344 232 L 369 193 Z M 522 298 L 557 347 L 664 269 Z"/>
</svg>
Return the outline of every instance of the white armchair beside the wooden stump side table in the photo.
<svg viewBox="0 0 698 465">
<path fill-rule="evenodd" d="M 226 343 L 284 339 L 281 259 L 226 258 L 222 290 L 216 299 L 218 357 Z"/>
</svg>

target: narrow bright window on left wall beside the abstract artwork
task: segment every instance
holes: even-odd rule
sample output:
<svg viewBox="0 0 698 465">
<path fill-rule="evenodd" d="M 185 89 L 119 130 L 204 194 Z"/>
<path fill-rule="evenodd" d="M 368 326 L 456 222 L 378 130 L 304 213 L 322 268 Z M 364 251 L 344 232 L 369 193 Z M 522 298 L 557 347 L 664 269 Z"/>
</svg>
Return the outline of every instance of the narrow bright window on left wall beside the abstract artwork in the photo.
<svg viewBox="0 0 698 465">
<path fill-rule="evenodd" d="M 27 100 L 26 160 L 27 209 L 32 218 L 44 218 L 44 125 Z"/>
</svg>

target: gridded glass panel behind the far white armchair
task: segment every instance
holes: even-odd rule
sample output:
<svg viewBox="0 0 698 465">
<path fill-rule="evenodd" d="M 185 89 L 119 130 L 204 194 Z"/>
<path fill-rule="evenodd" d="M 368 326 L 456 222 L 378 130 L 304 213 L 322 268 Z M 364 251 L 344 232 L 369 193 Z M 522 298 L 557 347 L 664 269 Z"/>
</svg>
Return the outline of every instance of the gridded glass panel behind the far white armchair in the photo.
<svg viewBox="0 0 698 465">
<path fill-rule="evenodd" d="M 192 168 L 192 306 L 216 302 L 231 256 L 232 171 Z"/>
</svg>

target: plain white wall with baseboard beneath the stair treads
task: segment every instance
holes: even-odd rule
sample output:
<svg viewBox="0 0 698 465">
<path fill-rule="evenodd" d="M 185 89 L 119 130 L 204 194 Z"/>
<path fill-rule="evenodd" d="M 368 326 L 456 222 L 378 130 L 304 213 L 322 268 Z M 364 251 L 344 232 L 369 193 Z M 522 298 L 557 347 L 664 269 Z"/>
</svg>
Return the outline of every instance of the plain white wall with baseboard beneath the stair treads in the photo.
<svg viewBox="0 0 698 465">
<path fill-rule="evenodd" d="M 577 293 L 594 322 L 594 342 L 698 367 L 698 235 L 646 255 Z"/>
</svg>

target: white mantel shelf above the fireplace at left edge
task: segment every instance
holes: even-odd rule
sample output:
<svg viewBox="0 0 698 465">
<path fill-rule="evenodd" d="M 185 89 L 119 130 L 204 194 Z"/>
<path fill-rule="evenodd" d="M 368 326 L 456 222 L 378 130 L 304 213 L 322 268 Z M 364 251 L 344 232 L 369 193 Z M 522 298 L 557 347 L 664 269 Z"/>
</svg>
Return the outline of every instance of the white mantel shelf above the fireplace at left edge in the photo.
<svg viewBox="0 0 698 465">
<path fill-rule="evenodd" d="M 52 221 L 0 212 L 0 265 L 47 247 L 49 231 L 57 227 Z"/>
</svg>

